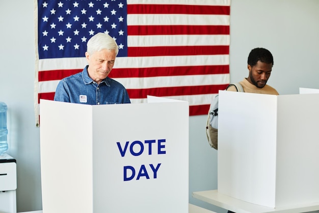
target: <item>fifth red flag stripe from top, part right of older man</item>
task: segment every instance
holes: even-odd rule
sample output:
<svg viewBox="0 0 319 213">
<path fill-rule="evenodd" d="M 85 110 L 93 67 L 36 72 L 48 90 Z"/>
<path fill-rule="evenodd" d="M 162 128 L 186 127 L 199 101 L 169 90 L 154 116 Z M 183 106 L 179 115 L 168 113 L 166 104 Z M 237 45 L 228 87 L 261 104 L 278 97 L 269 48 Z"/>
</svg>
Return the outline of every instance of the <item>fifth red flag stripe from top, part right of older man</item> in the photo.
<svg viewBox="0 0 319 213">
<path fill-rule="evenodd" d="M 144 99 L 147 96 L 167 97 L 167 96 L 189 96 L 194 94 L 218 93 L 218 90 L 226 89 L 228 84 L 203 85 L 203 86 L 180 86 L 180 87 L 161 87 L 147 89 L 127 89 L 129 98 Z"/>
</svg>

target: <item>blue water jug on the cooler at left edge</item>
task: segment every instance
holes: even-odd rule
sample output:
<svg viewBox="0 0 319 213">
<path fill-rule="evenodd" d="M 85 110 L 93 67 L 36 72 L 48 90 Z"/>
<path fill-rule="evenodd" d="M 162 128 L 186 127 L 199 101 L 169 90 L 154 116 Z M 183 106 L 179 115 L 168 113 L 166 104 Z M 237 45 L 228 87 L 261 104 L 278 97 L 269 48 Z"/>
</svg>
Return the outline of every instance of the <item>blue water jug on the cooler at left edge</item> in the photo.
<svg viewBox="0 0 319 213">
<path fill-rule="evenodd" d="M 8 150 L 7 104 L 0 102 L 0 155 Z"/>
</svg>

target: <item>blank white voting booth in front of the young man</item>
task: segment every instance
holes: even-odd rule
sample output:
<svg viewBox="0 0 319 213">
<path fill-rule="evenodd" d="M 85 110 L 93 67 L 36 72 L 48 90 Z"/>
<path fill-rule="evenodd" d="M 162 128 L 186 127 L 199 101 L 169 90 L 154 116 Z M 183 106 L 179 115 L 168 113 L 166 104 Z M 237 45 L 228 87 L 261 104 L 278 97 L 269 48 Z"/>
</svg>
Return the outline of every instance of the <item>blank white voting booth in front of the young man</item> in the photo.
<svg viewBox="0 0 319 213">
<path fill-rule="evenodd" d="M 282 207 L 319 202 L 319 94 L 219 91 L 218 192 Z"/>
</svg>

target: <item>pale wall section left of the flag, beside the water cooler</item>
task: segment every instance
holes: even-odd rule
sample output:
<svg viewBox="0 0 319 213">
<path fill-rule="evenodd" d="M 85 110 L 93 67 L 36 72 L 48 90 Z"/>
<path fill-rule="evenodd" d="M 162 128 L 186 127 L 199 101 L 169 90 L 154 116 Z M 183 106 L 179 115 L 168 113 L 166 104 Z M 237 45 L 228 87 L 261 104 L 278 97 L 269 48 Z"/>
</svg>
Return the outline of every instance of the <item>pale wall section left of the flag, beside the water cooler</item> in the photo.
<svg viewBox="0 0 319 213">
<path fill-rule="evenodd" d="M 33 0 L 0 0 L 0 100 L 8 105 L 8 154 L 17 161 L 18 211 L 42 209 L 33 10 Z"/>
</svg>

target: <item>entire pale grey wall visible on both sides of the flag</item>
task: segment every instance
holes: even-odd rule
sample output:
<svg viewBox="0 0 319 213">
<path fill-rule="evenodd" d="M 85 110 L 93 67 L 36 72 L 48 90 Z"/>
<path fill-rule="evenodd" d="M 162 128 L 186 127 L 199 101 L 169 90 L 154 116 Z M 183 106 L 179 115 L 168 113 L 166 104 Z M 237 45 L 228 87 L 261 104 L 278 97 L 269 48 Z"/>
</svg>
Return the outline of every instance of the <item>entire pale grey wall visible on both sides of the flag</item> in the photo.
<svg viewBox="0 0 319 213">
<path fill-rule="evenodd" d="M 18 212 L 42 209 L 39 128 L 35 127 L 33 109 L 33 3 L 33 0 L 0 0 L 0 100 L 9 107 L 8 153 L 17 160 Z M 315 65 L 319 56 L 317 11 L 317 0 L 233 0 L 231 81 L 238 82 L 248 76 L 250 50 L 263 47 L 274 55 L 269 84 L 280 94 L 298 93 L 299 87 L 319 88 L 319 72 Z M 217 151 L 208 145 L 205 122 L 205 115 L 190 117 L 190 203 L 224 213 L 226 210 L 191 195 L 217 188 Z"/>
</svg>

